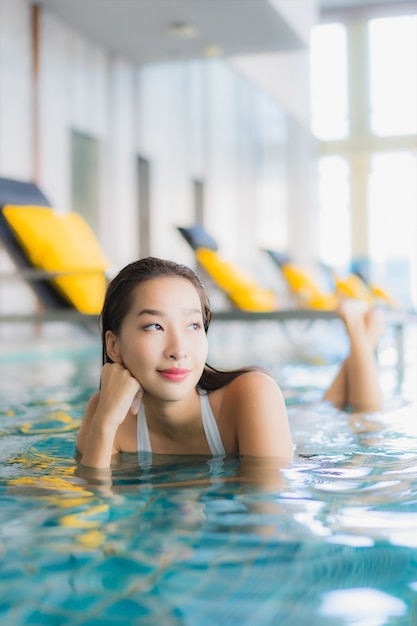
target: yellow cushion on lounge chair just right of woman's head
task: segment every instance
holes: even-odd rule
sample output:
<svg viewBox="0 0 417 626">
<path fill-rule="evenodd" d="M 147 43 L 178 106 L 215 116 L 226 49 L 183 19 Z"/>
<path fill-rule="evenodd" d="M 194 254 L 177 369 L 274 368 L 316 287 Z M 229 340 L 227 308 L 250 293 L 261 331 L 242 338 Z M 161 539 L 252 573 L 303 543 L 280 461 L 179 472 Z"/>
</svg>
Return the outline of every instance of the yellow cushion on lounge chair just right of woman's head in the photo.
<svg viewBox="0 0 417 626">
<path fill-rule="evenodd" d="M 272 290 L 257 285 L 253 279 L 219 257 L 217 252 L 208 248 L 199 248 L 196 250 L 196 256 L 209 276 L 239 309 L 244 311 L 276 310 L 276 297 Z"/>
</svg>

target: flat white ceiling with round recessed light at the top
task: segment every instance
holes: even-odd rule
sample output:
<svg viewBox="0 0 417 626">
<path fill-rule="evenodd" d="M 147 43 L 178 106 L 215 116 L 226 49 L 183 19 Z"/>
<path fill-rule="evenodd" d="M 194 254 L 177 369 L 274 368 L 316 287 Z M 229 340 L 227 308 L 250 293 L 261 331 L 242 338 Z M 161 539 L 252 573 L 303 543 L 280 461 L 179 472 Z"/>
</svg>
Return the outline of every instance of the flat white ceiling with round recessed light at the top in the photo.
<svg viewBox="0 0 417 626">
<path fill-rule="evenodd" d="M 290 51 L 305 45 L 269 0 L 28 1 L 136 64 Z M 325 10 L 404 4 L 401 0 L 317 2 Z M 168 29 L 178 23 L 196 27 L 197 35 L 174 36 Z"/>
</svg>

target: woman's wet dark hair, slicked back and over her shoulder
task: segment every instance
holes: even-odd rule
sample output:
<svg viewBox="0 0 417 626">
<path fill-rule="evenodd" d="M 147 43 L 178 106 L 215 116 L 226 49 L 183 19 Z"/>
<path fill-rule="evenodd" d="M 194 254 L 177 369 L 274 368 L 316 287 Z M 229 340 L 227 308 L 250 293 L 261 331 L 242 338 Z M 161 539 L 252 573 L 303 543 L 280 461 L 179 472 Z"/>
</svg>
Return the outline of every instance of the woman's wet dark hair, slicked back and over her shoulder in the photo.
<svg viewBox="0 0 417 626">
<path fill-rule="evenodd" d="M 163 276 L 185 278 L 195 287 L 201 302 L 204 330 L 207 333 L 211 321 L 210 302 L 203 283 L 196 272 L 186 265 L 158 259 L 156 257 L 139 259 L 138 261 L 129 263 L 120 270 L 107 286 L 103 309 L 100 314 L 103 364 L 112 362 L 106 352 L 106 333 L 110 330 L 115 335 L 120 334 L 123 320 L 132 306 L 132 293 L 134 288 L 140 283 Z M 224 387 L 241 374 L 254 370 L 257 371 L 259 369 L 260 368 L 256 367 L 246 367 L 222 371 L 206 363 L 201 378 L 197 383 L 197 387 L 199 391 L 214 391 Z"/>
</svg>

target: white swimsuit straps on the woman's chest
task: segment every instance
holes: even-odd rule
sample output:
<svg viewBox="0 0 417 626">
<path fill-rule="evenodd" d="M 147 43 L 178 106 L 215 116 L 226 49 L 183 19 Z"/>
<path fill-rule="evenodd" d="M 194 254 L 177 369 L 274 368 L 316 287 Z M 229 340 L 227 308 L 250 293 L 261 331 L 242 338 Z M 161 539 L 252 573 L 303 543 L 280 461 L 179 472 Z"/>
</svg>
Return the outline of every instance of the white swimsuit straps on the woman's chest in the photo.
<svg viewBox="0 0 417 626">
<path fill-rule="evenodd" d="M 213 456 L 225 455 L 226 450 L 223 447 L 220 438 L 219 429 L 217 427 L 216 418 L 211 410 L 208 395 L 200 395 L 201 417 L 203 420 L 204 433 L 207 437 L 207 443 Z M 139 465 L 149 463 L 149 456 L 152 454 L 151 440 L 149 438 L 148 422 L 146 421 L 145 409 L 143 403 L 140 404 L 137 416 L 137 442 L 138 442 L 138 461 Z"/>
</svg>

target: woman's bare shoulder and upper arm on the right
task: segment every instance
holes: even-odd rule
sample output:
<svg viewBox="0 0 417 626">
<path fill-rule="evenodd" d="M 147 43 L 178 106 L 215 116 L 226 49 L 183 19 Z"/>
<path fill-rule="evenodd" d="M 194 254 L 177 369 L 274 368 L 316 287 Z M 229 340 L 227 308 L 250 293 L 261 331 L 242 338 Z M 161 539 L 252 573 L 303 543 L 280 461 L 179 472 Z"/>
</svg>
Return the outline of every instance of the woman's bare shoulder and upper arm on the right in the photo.
<svg viewBox="0 0 417 626">
<path fill-rule="evenodd" d="M 292 460 L 287 409 L 270 376 L 262 372 L 239 376 L 228 385 L 224 405 L 234 416 L 240 455 Z"/>
</svg>

